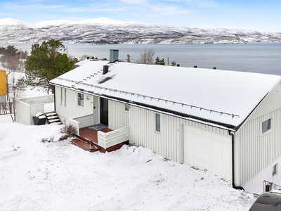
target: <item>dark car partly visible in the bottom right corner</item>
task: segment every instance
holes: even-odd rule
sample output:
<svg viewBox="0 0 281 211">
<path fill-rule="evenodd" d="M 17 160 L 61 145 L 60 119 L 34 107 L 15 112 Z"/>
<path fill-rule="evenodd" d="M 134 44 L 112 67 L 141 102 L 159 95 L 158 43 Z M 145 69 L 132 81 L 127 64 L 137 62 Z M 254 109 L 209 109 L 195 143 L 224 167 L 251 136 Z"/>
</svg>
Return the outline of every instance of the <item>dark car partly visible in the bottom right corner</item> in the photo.
<svg viewBox="0 0 281 211">
<path fill-rule="evenodd" d="M 281 211 L 281 191 L 262 193 L 249 211 Z"/>
</svg>

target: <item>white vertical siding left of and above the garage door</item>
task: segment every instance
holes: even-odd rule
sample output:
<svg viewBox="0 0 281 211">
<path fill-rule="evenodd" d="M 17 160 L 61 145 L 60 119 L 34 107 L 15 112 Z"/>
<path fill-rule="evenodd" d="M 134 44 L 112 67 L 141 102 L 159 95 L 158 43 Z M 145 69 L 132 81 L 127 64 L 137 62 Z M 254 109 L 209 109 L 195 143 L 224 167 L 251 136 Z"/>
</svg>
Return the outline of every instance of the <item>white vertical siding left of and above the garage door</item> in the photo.
<svg viewBox="0 0 281 211">
<path fill-rule="evenodd" d="M 161 113 L 161 132 L 155 132 L 155 111 L 130 106 L 129 126 L 130 143 L 136 146 L 151 148 L 158 155 L 176 162 L 184 162 L 183 155 L 183 128 L 184 125 L 203 131 L 214 133 L 218 136 L 227 137 L 228 132 L 209 125 L 183 120 Z"/>
</svg>

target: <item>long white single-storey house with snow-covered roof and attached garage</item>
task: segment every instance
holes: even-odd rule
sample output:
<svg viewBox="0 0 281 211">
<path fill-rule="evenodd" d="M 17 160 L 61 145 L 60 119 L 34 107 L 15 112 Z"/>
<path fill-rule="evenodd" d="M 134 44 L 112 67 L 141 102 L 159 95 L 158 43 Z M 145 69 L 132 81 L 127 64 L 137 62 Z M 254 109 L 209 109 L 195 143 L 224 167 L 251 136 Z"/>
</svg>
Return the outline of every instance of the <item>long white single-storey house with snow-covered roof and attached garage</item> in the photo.
<svg viewBox="0 0 281 211">
<path fill-rule="evenodd" d="M 51 80 L 60 120 L 79 129 L 126 128 L 129 143 L 235 188 L 261 193 L 264 180 L 281 183 L 280 76 L 115 58 L 86 60 Z"/>
</svg>

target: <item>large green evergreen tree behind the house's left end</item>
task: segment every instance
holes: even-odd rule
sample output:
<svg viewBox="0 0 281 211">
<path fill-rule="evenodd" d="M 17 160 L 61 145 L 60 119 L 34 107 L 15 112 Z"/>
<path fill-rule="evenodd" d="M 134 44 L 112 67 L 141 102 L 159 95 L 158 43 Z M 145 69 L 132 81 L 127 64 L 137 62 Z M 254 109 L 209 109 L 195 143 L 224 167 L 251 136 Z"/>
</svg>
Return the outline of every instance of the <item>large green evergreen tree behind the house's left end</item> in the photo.
<svg viewBox="0 0 281 211">
<path fill-rule="evenodd" d="M 65 46 L 58 40 L 33 44 L 31 56 L 25 61 L 25 84 L 53 92 L 48 82 L 74 68 L 74 61 L 64 52 Z"/>
</svg>

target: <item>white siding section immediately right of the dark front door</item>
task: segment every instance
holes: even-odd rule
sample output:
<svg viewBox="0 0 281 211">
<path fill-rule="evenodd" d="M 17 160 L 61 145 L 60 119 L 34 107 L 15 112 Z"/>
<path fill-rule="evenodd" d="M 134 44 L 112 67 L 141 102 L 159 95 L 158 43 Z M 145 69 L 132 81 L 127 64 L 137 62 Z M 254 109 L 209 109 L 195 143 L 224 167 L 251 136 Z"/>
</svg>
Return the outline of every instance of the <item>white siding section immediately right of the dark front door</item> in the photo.
<svg viewBox="0 0 281 211">
<path fill-rule="evenodd" d="M 119 129 L 129 125 L 129 111 L 125 110 L 125 103 L 108 101 L 108 127 Z"/>
</svg>

